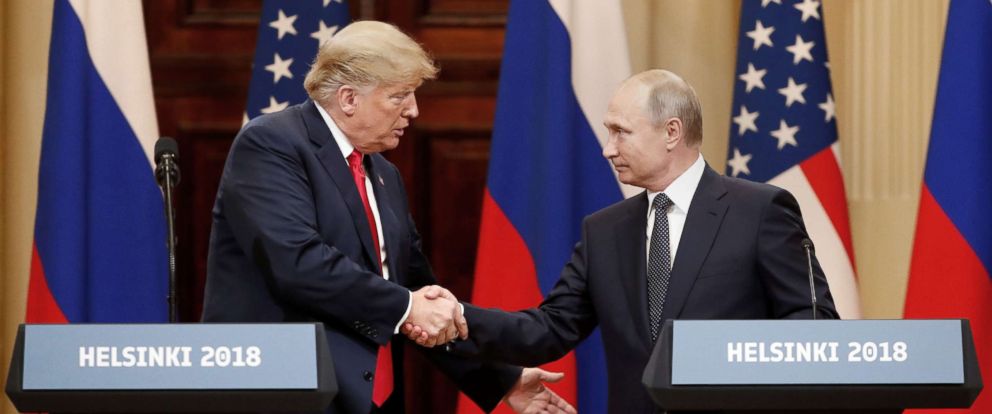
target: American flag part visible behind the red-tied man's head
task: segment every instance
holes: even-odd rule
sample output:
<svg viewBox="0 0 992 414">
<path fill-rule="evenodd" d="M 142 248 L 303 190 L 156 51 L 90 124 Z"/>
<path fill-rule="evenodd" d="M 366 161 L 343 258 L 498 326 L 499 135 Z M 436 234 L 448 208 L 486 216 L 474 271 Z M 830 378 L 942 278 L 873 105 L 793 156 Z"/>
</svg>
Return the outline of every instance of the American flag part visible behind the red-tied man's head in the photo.
<svg viewBox="0 0 992 414">
<path fill-rule="evenodd" d="M 305 101 L 303 78 L 318 47 L 350 21 L 344 0 L 267 0 L 262 5 L 244 122 Z"/>
</svg>

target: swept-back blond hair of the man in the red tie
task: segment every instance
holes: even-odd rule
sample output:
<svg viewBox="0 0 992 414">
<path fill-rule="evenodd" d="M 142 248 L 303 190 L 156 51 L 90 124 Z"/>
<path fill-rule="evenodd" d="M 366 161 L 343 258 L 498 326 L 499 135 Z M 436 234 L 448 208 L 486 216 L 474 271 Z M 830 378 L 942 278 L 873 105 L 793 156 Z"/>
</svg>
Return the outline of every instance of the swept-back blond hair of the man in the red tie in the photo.
<svg viewBox="0 0 992 414">
<path fill-rule="evenodd" d="M 344 85 L 358 89 L 437 77 L 427 51 L 396 26 L 354 22 L 320 46 L 303 81 L 310 98 L 327 102 Z"/>
</svg>

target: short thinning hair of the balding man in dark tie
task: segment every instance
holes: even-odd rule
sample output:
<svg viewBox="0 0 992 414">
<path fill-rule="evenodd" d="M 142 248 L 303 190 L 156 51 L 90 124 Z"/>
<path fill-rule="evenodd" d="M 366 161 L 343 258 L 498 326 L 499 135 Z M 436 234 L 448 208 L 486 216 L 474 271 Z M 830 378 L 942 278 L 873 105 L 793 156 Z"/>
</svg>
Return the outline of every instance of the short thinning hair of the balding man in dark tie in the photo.
<svg viewBox="0 0 992 414">
<path fill-rule="evenodd" d="M 678 75 L 664 69 L 652 69 L 632 77 L 647 89 L 645 110 L 651 123 L 661 127 L 665 120 L 678 118 L 685 128 L 686 145 L 703 142 L 703 110 L 696 90 Z"/>
</svg>

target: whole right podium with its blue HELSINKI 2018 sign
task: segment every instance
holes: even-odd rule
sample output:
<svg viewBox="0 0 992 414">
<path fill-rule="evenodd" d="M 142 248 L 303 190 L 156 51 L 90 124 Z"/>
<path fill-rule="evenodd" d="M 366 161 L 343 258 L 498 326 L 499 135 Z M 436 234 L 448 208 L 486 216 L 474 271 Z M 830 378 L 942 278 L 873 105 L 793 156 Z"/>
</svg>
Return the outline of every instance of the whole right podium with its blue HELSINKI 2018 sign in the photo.
<svg viewBox="0 0 992 414">
<path fill-rule="evenodd" d="M 967 320 L 666 321 L 643 384 L 667 411 L 967 408 Z"/>
</svg>

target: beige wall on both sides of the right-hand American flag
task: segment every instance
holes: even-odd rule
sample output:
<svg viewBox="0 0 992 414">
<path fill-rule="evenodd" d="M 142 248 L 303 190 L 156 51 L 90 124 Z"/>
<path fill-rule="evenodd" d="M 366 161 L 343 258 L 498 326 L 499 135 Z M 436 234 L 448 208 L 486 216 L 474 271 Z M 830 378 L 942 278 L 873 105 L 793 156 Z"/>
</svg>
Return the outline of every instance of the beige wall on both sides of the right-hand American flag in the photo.
<svg viewBox="0 0 992 414">
<path fill-rule="evenodd" d="M 946 0 L 832 0 L 823 18 L 865 318 L 902 316 Z M 703 154 L 726 160 L 739 1 L 625 0 L 634 71 L 703 100 Z"/>
</svg>

